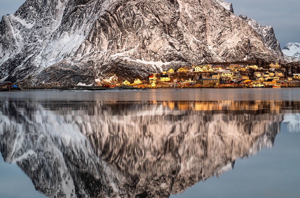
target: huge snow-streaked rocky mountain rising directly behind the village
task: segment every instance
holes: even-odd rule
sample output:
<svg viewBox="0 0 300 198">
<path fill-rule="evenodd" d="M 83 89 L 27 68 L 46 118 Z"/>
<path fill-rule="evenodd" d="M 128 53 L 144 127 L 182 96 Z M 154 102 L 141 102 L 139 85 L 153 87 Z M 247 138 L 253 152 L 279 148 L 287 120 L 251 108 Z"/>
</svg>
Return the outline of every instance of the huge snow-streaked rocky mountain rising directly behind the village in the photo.
<svg viewBox="0 0 300 198">
<path fill-rule="evenodd" d="M 222 7 L 219 3 L 221 3 Z M 215 0 L 27 0 L 0 22 L 0 80 L 92 84 L 190 62 L 278 60 Z"/>
</svg>

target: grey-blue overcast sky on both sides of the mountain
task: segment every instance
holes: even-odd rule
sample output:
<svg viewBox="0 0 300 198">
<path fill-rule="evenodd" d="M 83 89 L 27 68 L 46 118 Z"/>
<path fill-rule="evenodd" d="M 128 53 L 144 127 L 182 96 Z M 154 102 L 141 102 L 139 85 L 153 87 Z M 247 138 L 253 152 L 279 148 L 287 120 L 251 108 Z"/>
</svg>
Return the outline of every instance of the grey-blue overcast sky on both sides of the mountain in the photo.
<svg viewBox="0 0 300 198">
<path fill-rule="evenodd" d="M 0 16 L 13 14 L 25 0 L 0 0 Z M 289 42 L 300 43 L 299 0 L 227 0 L 234 13 L 245 15 L 263 26 L 273 26 L 283 48 Z"/>
</svg>

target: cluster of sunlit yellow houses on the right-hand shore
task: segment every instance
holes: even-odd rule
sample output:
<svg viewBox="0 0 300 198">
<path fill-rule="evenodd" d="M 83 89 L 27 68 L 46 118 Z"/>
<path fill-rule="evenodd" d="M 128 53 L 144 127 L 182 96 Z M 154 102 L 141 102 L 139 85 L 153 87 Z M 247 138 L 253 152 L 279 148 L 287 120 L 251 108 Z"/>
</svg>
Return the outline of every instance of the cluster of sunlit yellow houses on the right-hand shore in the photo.
<svg viewBox="0 0 300 198">
<path fill-rule="evenodd" d="M 197 81 L 193 81 L 191 78 L 181 82 L 177 81 L 177 84 L 180 85 L 213 85 L 214 87 L 222 87 L 222 86 L 233 86 L 233 87 L 246 87 L 252 86 L 253 84 L 262 84 L 266 86 L 270 85 L 284 85 L 286 82 L 281 82 L 280 78 L 284 77 L 284 74 L 280 71 L 281 65 L 278 63 L 271 63 L 269 65 L 269 69 L 263 69 L 262 67 L 258 67 L 257 65 L 249 65 L 246 66 L 240 64 L 230 64 L 227 67 L 223 65 L 210 65 L 210 64 L 194 64 L 192 63 L 190 66 L 181 66 L 177 69 L 170 68 L 167 71 L 163 71 L 161 74 L 151 74 L 146 82 L 149 84 L 149 87 L 156 87 L 157 82 L 169 82 L 171 81 L 170 75 L 172 73 L 210 73 L 211 78 L 200 78 Z M 249 73 L 253 73 L 253 78 L 249 79 L 248 76 L 243 76 L 242 72 L 248 71 Z M 259 72 L 264 71 L 264 72 Z M 240 72 L 239 76 L 234 75 L 235 72 Z M 300 74 L 293 74 L 293 78 L 300 79 Z M 288 78 L 288 81 L 291 81 L 292 78 Z M 128 80 L 124 80 L 122 82 L 123 85 L 137 85 L 140 86 L 142 83 L 140 78 L 136 78 L 133 82 L 129 82 Z"/>
</svg>

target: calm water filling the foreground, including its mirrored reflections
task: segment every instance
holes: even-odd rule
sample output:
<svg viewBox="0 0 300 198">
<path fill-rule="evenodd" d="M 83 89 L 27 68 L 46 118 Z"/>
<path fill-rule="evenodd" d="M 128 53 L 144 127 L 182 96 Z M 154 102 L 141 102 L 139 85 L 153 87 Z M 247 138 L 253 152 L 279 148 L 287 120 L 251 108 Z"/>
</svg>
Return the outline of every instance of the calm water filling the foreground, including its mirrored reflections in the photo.
<svg viewBox="0 0 300 198">
<path fill-rule="evenodd" d="M 0 197 L 298 197 L 300 89 L 0 92 Z"/>
</svg>

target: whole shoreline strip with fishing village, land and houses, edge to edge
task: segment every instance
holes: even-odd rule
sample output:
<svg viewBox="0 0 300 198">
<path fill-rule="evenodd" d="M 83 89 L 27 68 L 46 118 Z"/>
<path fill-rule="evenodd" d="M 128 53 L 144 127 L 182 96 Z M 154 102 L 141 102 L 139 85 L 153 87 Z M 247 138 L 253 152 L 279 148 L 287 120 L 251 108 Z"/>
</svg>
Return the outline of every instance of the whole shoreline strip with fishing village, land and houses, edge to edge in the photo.
<svg viewBox="0 0 300 198">
<path fill-rule="evenodd" d="M 300 72 L 287 74 L 287 68 L 271 63 L 267 68 L 256 64 L 195 64 L 169 68 L 161 73 L 150 73 L 146 78 L 111 79 L 91 85 L 79 83 L 62 86 L 55 82 L 47 85 L 18 85 L 8 81 L 0 82 L 0 91 L 36 89 L 143 89 L 143 88 L 262 88 L 262 87 L 299 87 Z M 291 72 L 293 68 L 290 69 Z M 120 81 L 119 81 L 120 80 Z"/>
</svg>

